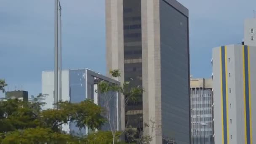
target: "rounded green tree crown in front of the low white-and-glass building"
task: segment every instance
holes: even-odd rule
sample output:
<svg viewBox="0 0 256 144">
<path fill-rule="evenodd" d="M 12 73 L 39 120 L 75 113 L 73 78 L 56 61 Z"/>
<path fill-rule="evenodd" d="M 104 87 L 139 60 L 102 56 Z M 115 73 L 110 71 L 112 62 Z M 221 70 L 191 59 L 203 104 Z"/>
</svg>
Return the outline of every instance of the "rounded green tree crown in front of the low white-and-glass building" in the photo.
<svg viewBox="0 0 256 144">
<path fill-rule="evenodd" d="M 68 122 L 76 122 L 78 128 L 88 126 L 91 129 L 100 128 L 105 123 L 101 116 L 101 107 L 94 104 L 91 100 L 80 103 L 59 102 L 56 104 L 58 109 L 48 109 L 41 112 L 40 117 L 47 127 L 53 131 L 58 131 L 59 126 Z"/>
</svg>

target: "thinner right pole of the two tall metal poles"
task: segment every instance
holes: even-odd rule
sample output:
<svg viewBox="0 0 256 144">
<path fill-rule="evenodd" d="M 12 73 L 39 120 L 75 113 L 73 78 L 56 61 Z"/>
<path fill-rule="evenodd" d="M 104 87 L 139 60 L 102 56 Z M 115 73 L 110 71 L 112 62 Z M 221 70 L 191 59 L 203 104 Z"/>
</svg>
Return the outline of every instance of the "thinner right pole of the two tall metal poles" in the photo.
<svg viewBox="0 0 256 144">
<path fill-rule="evenodd" d="M 59 101 L 62 100 L 61 96 L 61 74 L 62 74 L 62 53 L 61 53 L 61 5 L 59 3 Z"/>
</svg>

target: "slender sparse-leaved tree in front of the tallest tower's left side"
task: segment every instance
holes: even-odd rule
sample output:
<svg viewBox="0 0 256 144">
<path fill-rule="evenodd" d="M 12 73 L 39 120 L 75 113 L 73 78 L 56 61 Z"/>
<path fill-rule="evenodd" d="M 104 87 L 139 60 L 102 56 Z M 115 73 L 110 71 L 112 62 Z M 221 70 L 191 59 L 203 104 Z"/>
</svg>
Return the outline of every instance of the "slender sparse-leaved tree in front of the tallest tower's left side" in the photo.
<svg viewBox="0 0 256 144">
<path fill-rule="evenodd" d="M 112 77 L 120 77 L 120 70 L 113 70 L 109 72 Z M 120 134 L 117 134 L 118 130 L 115 127 L 115 120 L 112 120 L 110 112 L 111 112 L 111 103 L 112 99 L 115 95 L 109 95 L 109 92 L 117 92 L 121 93 L 124 96 L 124 107 L 128 104 L 129 101 L 136 101 L 139 96 L 142 95 L 143 89 L 139 86 L 132 87 L 130 85 L 130 82 L 124 82 L 123 85 L 117 85 L 114 83 L 109 83 L 105 80 L 101 80 L 98 83 L 99 92 L 102 94 L 102 100 L 104 103 L 104 109 L 105 109 L 105 117 L 107 119 L 107 123 L 109 124 L 110 131 L 112 132 L 112 142 L 115 144 L 116 136 L 119 136 Z M 121 117 L 118 119 L 118 122 L 120 123 Z"/>
</svg>

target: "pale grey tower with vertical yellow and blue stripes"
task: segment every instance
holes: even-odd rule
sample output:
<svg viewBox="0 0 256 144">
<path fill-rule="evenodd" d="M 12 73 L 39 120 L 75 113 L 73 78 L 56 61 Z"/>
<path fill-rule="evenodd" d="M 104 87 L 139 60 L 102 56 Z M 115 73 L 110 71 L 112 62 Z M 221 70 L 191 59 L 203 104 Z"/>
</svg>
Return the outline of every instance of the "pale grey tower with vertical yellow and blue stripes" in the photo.
<svg viewBox="0 0 256 144">
<path fill-rule="evenodd" d="M 213 48 L 213 113 L 216 144 L 256 141 L 256 47 Z"/>
</svg>

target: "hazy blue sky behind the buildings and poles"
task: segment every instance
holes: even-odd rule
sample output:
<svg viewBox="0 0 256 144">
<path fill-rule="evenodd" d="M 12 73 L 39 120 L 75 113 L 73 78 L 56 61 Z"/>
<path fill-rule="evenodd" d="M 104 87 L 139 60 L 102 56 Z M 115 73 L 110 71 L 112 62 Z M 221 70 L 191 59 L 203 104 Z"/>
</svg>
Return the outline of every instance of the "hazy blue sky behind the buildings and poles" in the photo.
<svg viewBox="0 0 256 144">
<path fill-rule="evenodd" d="M 212 48 L 238 44 L 256 0 L 178 0 L 189 9 L 190 72 L 212 74 Z M 63 69 L 106 74 L 105 0 L 61 0 Z M 6 90 L 41 92 L 54 69 L 54 0 L 0 0 L 0 79 Z M 0 93 L 0 96 L 3 96 Z"/>
</svg>

